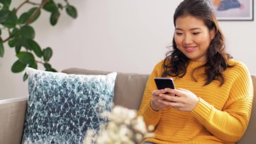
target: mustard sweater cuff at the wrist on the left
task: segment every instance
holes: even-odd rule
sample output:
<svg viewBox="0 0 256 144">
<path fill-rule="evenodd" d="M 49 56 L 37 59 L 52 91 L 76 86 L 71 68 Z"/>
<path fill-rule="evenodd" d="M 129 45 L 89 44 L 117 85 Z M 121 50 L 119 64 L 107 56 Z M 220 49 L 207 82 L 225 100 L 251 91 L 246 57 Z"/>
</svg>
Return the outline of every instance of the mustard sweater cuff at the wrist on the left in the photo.
<svg viewBox="0 0 256 144">
<path fill-rule="evenodd" d="M 149 118 L 150 121 L 154 121 L 157 120 L 160 115 L 161 112 L 160 111 L 154 111 L 151 107 L 150 107 L 150 101 L 147 103 L 147 105 L 144 108 L 144 117 Z"/>
</svg>

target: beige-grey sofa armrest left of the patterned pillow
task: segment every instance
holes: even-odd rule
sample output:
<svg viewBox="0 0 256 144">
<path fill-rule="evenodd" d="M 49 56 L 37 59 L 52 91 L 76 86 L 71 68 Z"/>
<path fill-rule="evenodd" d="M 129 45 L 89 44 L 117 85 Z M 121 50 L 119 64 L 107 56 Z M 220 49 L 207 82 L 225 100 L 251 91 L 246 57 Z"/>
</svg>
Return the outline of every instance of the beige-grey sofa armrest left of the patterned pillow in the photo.
<svg viewBox="0 0 256 144">
<path fill-rule="evenodd" d="M 27 97 L 0 100 L 0 143 L 20 144 Z"/>
</svg>

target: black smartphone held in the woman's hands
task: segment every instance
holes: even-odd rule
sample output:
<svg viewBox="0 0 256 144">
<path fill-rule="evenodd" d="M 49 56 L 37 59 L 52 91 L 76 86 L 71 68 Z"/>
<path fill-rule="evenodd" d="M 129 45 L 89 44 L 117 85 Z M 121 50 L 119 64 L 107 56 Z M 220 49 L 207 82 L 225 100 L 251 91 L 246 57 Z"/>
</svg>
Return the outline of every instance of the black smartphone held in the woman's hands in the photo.
<svg viewBox="0 0 256 144">
<path fill-rule="evenodd" d="M 155 84 L 157 85 L 157 89 L 159 90 L 165 88 L 175 89 L 173 79 L 170 77 L 155 77 Z"/>
</svg>

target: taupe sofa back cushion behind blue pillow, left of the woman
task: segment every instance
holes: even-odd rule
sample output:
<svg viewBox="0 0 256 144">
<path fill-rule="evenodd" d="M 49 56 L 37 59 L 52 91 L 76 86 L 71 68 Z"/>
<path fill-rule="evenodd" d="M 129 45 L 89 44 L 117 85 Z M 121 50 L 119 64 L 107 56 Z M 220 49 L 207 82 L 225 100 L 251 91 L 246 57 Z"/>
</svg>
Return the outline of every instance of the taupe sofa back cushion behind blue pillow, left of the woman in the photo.
<svg viewBox="0 0 256 144">
<path fill-rule="evenodd" d="M 109 72 L 70 68 L 62 72 L 79 75 L 105 75 Z M 139 109 L 149 75 L 117 72 L 114 104 L 129 109 Z"/>
</svg>

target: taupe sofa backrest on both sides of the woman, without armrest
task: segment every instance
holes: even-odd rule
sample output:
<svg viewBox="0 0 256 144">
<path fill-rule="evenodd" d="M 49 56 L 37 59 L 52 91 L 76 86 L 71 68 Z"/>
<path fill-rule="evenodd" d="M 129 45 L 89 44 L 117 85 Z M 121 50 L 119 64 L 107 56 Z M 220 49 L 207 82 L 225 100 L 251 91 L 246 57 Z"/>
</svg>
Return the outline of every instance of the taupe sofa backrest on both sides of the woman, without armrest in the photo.
<svg viewBox="0 0 256 144">
<path fill-rule="evenodd" d="M 78 68 L 65 69 L 62 72 L 77 75 L 106 75 L 110 73 Z M 138 110 L 148 78 L 149 75 L 117 72 L 114 103 L 129 109 Z M 251 76 L 251 78 L 255 90 L 251 118 L 245 134 L 237 144 L 256 144 L 256 136 L 254 136 L 256 133 L 256 76 Z"/>
</svg>

